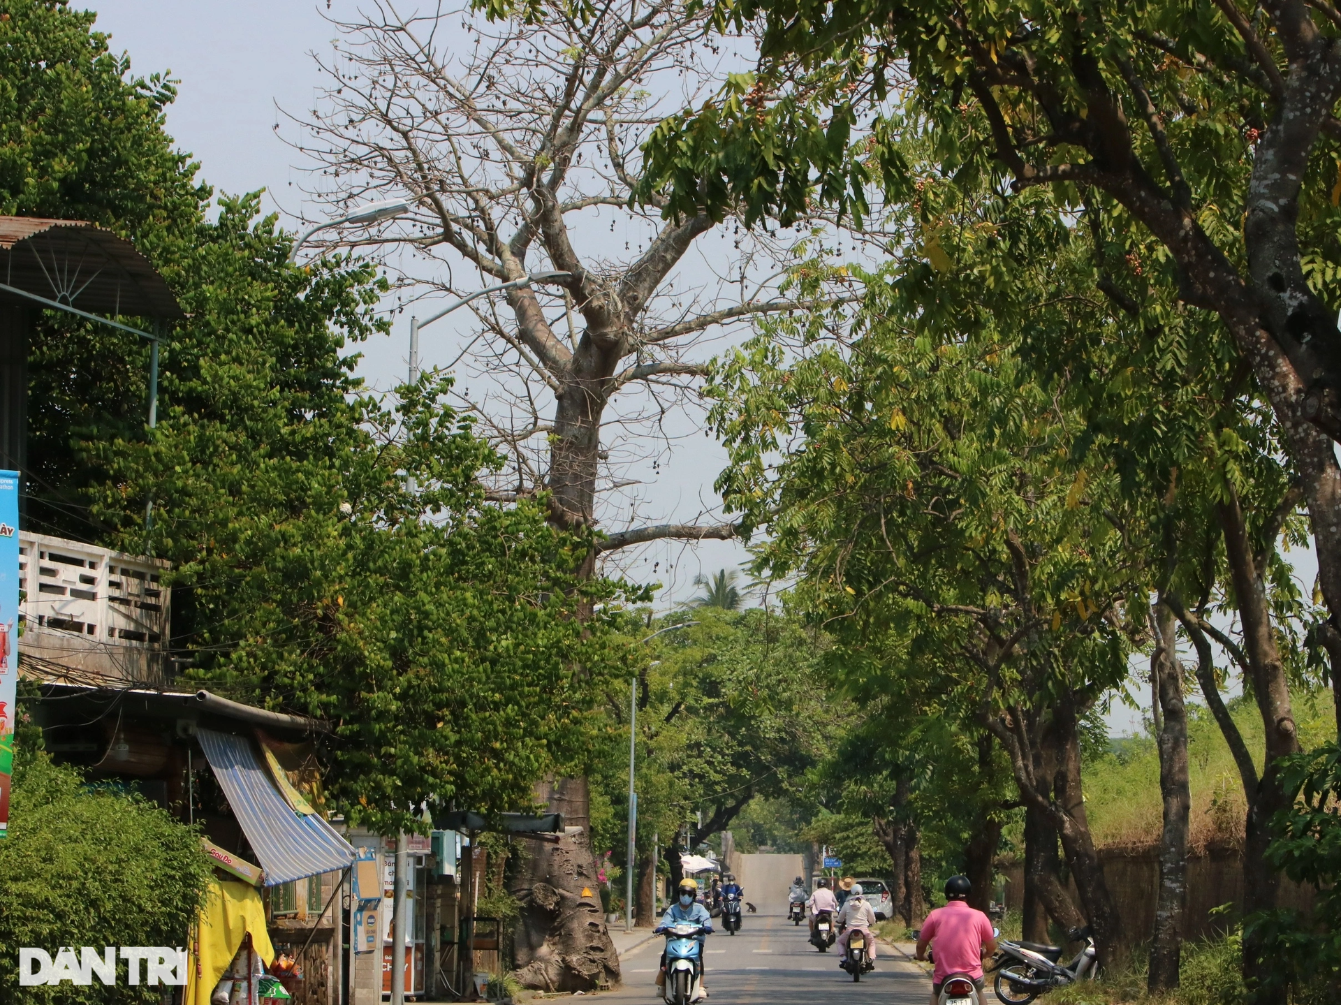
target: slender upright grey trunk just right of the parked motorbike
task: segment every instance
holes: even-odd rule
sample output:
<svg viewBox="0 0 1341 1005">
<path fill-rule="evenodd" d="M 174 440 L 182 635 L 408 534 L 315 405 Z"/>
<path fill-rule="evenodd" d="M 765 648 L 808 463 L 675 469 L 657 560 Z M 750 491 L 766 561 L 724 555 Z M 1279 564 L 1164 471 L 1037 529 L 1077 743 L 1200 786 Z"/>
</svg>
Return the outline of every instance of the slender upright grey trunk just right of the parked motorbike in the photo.
<svg viewBox="0 0 1341 1005">
<path fill-rule="evenodd" d="M 1187 763 L 1187 707 L 1183 702 L 1183 667 L 1177 659 L 1173 611 L 1160 604 L 1151 617 L 1157 628 L 1151 676 L 1160 710 L 1160 796 L 1164 800 L 1164 828 L 1160 833 L 1160 888 L 1155 902 L 1155 931 L 1151 939 L 1151 967 L 1147 986 L 1151 994 L 1179 985 L 1187 912 L 1187 832 L 1192 809 Z"/>
</svg>

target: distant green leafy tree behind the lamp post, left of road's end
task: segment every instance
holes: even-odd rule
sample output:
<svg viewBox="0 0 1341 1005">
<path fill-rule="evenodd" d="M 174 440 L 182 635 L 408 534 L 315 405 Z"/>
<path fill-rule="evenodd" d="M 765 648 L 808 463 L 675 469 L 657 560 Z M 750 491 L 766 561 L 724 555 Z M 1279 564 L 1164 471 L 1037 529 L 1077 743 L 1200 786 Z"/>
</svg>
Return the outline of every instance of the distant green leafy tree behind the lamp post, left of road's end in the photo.
<svg viewBox="0 0 1341 1005">
<path fill-rule="evenodd" d="M 822 635 L 775 611 L 703 606 L 648 631 L 687 624 L 641 647 L 637 671 L 638 916 L 650 918 L 652 836 L 670 876 L 692 823 L 693 847 L 728 829 L 755 798 L 799 792 L 831 734 L 825 712 Z M 645 635 L 644 635 L 645 637 Z M 654 664 L 654 666 L 653 666 Z M 629 688 L 609 690 L 607 746 L 594 786 L 610 813 L 605 841 L 624 865 Z"/>
</svg>

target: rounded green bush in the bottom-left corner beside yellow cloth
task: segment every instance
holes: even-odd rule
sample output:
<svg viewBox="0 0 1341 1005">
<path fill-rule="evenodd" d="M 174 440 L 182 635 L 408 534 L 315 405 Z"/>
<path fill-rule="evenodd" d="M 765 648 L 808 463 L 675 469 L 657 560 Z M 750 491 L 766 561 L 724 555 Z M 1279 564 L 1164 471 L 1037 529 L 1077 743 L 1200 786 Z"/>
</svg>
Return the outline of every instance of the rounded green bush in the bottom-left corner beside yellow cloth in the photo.
<svg viewBox="0 0 1341 1005">
<path fill-rule="evenodd" d="M 0 841 L 0 1004 L 158 1002 L 94 981 L 19 986 L 19 947 L 185 946 L 212 875 L 200 839 L 138 796 L 82 785 L 44 755 L 17 765 Z"/>
</svg>

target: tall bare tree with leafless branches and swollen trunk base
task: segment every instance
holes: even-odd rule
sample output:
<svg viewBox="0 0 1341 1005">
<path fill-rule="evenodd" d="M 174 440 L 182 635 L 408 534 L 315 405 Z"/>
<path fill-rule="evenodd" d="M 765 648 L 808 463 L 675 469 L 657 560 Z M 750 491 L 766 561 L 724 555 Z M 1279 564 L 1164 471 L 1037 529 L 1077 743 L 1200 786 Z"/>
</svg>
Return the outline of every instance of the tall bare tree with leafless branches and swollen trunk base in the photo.
<svg viewBox="0 0 1341 1005">
<path fill-rule="evenodd" d="M 412 298 L 511 283 L 472 305 L 459 390 L 511 460 L 507 480 L 491 486 L 495 499 L 547 491 L 561 526 L 595 526 L 598 492 L 664 448 L 650 437 L 665 436 L 666 417 L 692 399 L 704 339 L 815 306 L 779 283 L 778 235 L 630 205 L 642 141 L 665 111 L 715 86 L 704 23 L 677 0 L 546 0 L 527 21 L 487 21 L 468 8 L 402 13 L 373 0 L 358 20 L 335 24 L 334 51 L 318 60 L 325 90 L 295 118 L 315 191 L 335 212 L 392 196 L 414 204 L 333 243 L 380 255 Z M 563 276 L 527 282 L 539 271 Z M 595 551 L 734 533 L 725 522 L 624 526 Z M 594 553 L 591 572 L 595 562 Z M 546 797 L 585 824 L 585 782 L 548 785 Z M 518 931 L 523 980 L 578 990 L 617 975 L 587 888 L 585 835 L 542 847 L 531 872 L 518 887 L 530 891 Z"/>
</svg>

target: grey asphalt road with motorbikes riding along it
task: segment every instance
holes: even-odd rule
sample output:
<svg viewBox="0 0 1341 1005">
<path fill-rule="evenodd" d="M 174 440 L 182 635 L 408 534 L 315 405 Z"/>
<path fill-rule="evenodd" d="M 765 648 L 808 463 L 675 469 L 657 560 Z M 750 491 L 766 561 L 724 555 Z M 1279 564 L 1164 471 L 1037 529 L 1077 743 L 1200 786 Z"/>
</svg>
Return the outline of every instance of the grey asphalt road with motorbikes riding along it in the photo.
<svg viewBox="0 0 1341 1005">
<path fill-rule="evenodd" d="M 838 947 L 819 953 L 806 942 L 807 934 L 805 923 L 795 927 L 776 914 L 747 914 L 738 934 L 709 935 L 708 1005 L 927 1005 L 929 980 L 897 951 L 881 946 L 874 973 L 853 982 L 838 969 Z M 624 985 L 599 997 L 657 1005 L 662 945 L 656 938 L 625 954 Z"/>
</svg>

